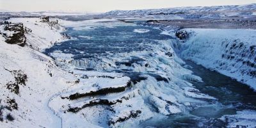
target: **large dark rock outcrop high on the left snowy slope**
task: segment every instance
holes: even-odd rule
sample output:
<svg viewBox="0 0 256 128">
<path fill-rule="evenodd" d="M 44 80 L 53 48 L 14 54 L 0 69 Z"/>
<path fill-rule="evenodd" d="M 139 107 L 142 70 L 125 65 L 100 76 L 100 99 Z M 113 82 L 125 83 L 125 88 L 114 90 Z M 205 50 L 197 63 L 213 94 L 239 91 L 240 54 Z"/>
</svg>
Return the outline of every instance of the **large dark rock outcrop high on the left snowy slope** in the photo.
<svg viewBox="0 0 256 128">
<path fill-rule="evenodd" d="M 6 33 L 2 33 L 2 35 L 6 38 L 6 43 L 8 44 L 17 44 L 21 47 L 26 45 L 26 36 L 24 35 L 25 29 L 22 23 L 12 24 L 6 22 L 6 26 L 4 26 L 4 31 L 10 31 L 13 34 L 7 35 Z"/>
</svg>

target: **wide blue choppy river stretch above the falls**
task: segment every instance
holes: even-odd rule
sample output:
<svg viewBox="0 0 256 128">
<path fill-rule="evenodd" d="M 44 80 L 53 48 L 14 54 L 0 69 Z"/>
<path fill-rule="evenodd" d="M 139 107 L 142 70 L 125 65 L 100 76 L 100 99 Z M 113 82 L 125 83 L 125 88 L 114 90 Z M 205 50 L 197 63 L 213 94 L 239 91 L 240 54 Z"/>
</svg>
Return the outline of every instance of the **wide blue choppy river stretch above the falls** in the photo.
<svg viewBox="0 0 256 128">
<path fill-rule="evenodd" d="M 115 23 L 114 23 L 115 24 Z M 134 29 L 150 30 L 147 33 L 134 33 Z M 116 52 L 152 50 L 151 44 L 156 44 L 156 40 L 167 40 L 172 38 L 169 35 L 160 34 L 162 31 L 143 26 L 91 26 L 88 29 L 67 28 L 65 33 L 77 38 L 68 40 L 60 45 L 54 45 L 51 49 L 46 49 L 49 54 L 53 51 L 74 54 L 74 59 L 81 58 L 102 58 Z"/>
</svg>

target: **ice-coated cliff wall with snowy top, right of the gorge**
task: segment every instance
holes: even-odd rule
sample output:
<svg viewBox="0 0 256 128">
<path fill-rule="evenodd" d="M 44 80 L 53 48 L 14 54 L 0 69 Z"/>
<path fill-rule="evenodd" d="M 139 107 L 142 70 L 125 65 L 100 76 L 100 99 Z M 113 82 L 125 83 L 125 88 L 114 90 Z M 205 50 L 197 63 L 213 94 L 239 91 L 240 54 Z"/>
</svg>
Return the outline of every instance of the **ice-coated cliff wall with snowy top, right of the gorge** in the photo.
<svg viewBox="0 0 256 128">
<path fill-rule="evenodd" d="M 182 58 L 193 60 L 256 90 L 256 30 L 183 29 L 189 38 L 180 42 Z"/>
</svg>

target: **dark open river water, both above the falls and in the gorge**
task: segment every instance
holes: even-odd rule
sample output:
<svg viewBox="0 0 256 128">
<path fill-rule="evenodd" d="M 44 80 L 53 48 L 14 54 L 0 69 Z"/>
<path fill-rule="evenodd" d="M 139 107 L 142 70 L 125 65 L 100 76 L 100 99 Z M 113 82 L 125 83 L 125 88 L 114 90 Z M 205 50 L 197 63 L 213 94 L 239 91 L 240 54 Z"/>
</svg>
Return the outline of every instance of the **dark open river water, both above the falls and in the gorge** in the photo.
<svg viewBox="0 0 256 128">
<path fill-rule="evenodd" d="M 136 25 L 90 26 L 90 28 L 84 28 L 67 28 L 65 33 L 76 38 L 76 40 L 68 40 L 54 45 L 50 49 L 46 49 L 45 53 L 51 56 L 52 52 L 61 51 L 73 54 L 72 58 L 74 60 L 101 60 L 102 58 L 116 57 L 115 54 L 120 52 L 154 51 L 155 47 L 153 46 L 161 45 L 157 40 L 173 38 L 161 34 L 162 31 L 159 29 Z M 134 32 L 135 29 L 139 33 Z M 136 56 L 133 56 L 125 65 L 129 65 L 131 61 L 140 60 L 136 60 Z M 161 120 L 149 119 L 142 122 L 141 127 L 225 127 L 227 124 L 218 119 L 221 116 L 235 115 L 236 111 L 243 109 L 256 110 L 256 100 L 253 100 L 256 98 L 256 92 L 253 92 L 247 85 L 196 65 L 191 61 L 186 61 L 186 63 L 193 67 L 189 70 L 192 70 L 196 76 L 202 77 L 204 81 L 203 83 L 190 81 L 196 89 L 218 100 L 207 106 L 193 109 L 189 113 L 169 115 Z M 86 66 L 95 68 L 92 65 Z"/>
</svg>

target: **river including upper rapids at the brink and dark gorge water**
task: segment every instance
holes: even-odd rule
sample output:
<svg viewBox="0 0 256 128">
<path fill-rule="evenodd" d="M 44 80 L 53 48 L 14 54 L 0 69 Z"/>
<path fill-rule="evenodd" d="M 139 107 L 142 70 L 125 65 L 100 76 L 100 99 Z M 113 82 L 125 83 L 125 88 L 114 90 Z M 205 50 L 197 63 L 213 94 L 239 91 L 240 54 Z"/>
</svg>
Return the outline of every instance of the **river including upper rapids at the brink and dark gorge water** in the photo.
<svg viewBox="0 0 256 128">
<path fill-rule="evenodd" d="M 65 33 L 75 39 L 45 50 L 49 56 L 57 51 L 72 54 L 71 64 L 64 63 L 63 67 L 73 65 L 76 69 L 85 70 L 84 72 L 86 70 L 118 72 L 131 77 L 134 81 L 143 80 L 139 78 L 141 74 L 160 79 L 159 83 L 168 81 L 165 77 L 159 76 L 157 72 L 166 71 L 159 69 L 157 65 L 154 67 L 149 64 L 154 68 L 150 71 L 136 67 L 136 65 L 148 67 L 145 61 L 153 61 L 154 52 L 158 53 L 163 45 L 168 45 L 169 40 L 174 40 L 173 36 L 164 35 L 160 29 L 137 26 L 132 23 L 97 22 L 90 26 L 84 24 L 84 26 L 69 27 Z M 171 45 L 168 46 L 171 47 Z M 147 56 L 141 57 L 141 52 L 147 53 Z M 52 58 L 56 59 L 56 56 Z M 113 60 L 116 60 L 115 63 L 109 63 Z M 182 113 L 150 118 L 141 122 L 140 127 L 225 127 L 227 123 L 219 119 L 221 116 L 236 115 L 237 111 L 244 109 L 256 110 L 256 100 L 252 100 L 255 99 L 256 92 L 246 84 L 196 65 L 192 61 L 186 61 L 186 63 L 190 66 L 187 68 L 204 81 L 189 81 L 189 83 L 192 83 L 200 92 L 218 100 L 206 100 L 208 104 Z"/>
</svg>

